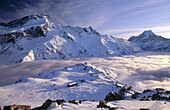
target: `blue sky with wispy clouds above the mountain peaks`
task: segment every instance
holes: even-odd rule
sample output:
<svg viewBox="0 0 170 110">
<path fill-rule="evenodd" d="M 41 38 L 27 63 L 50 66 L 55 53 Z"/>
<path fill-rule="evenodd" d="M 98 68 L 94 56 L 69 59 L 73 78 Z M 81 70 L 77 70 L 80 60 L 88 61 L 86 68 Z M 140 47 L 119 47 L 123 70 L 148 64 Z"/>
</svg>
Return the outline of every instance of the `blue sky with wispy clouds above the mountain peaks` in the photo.
<svg viewBox="0 0 170 110">
<path fill-rule="evenodd" d="M 92 26 L 114 37 L 152 30 L 170 38 L 170 0 L 0 0 L 0 22 L 39 13 L 56 24 Z"/>
</svg>

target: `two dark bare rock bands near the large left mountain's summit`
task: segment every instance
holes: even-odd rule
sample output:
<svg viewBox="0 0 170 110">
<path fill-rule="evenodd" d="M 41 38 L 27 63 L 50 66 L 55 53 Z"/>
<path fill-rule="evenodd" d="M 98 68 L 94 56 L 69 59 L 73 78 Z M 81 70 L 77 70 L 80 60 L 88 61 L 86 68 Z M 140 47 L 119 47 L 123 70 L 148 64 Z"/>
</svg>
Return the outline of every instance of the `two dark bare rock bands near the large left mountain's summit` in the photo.
<svg viewBox="0 0 170 110">
<path fill-rule="evenodd" d="M 16 28 L 18 26 L 24 25 L 27 21 L 31 19 L 38 20 L 45 16 L 48 19 L 50 19 L 50 17 L 46 14 L 30 15 L 30 16 L 23 17 L 21 19 L 11 21 L 9 23 L 0 23 L 0 26 Z M 19 37 L 33 37 L 33 38 L 40 37 L 40 36 L 45 37 L 47 34 L 47 29 L 53 28 L 53 27 L 54 26 L 49 26 L 48 22 L 46 22 L 46 24 L 44 24 L 43 26 L 42 25 L 32 26 L 32 27 L 25 28 L 22 31 L 9 32 L 7 34 L 0 34 L 0 43 L 2 44 L 3 43 L 15 43 L 16 39 Z"/>
</svg>

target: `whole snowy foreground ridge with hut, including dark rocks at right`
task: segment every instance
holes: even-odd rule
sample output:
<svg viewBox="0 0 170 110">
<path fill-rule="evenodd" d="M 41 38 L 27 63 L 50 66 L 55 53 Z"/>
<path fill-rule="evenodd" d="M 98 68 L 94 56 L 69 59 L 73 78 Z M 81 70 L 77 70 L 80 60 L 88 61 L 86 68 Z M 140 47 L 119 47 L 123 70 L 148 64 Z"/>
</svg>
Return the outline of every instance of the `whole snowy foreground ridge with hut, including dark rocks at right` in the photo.
<svg viewBox="0 0 170 110">
<path fill-rule="evenodd" d="M 148 102 L 147 108 L 169 107 L 169 102 L 163 102 L 163 100 L 170 100 L 169 91 L 155 89 L 137 93 L 131 86 L 118 82 L 117 77 L 117 73 L 112 70 L 96 68 L 87 63 L 76 64 L 61 70 L 43 72 L 32 78 L 24 78 L 16 81 L 16 84 L 1 86 L 0 104 L 1 106 L 27 104 L 34 108 L 42 105 L 47 99 L 64 99 L 68 102 L 64 103 L 62 109 L 83 109 L 83 106 L 96 109 L 98 101 L 105 100 L 111 101 L 107 103 L 107 106 L 118 108 L 129 108 L 125 106 L 127 103 L 132 105 L 139 103 L 140 105 L 131 107 L 139 109 L 146 108 L 144 106 L 146 102 L 138 102 L 139 100 L 161 100 L 160 102 Z M 72 104 L 73 100 L 78 103 Z M 126 100 L 127 102 L 112 102 L 115 100 Z M 124 103 L 126 104 L 123 105 Z M 58 108 L 55 101 L 50 108 Z M 108 108 L 106 107 L 106 109 Z"/>
</svg>

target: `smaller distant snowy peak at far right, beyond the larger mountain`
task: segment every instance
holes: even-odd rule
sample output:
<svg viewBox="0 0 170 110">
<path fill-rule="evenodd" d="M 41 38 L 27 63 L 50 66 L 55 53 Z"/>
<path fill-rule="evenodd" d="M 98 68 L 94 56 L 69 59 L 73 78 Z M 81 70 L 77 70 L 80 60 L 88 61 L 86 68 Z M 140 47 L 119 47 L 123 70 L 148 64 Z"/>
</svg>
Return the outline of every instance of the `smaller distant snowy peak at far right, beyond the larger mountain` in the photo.
<svg viewBox="0 0 170 110">
<path fill-rule="evenodd" d="M 170 39 L 158 36 L 151 30 L 144 31 L 139 36 L 132 36 L 128 41 L 135 43 L 143 50 L 170 51 Z"/>
</svg>

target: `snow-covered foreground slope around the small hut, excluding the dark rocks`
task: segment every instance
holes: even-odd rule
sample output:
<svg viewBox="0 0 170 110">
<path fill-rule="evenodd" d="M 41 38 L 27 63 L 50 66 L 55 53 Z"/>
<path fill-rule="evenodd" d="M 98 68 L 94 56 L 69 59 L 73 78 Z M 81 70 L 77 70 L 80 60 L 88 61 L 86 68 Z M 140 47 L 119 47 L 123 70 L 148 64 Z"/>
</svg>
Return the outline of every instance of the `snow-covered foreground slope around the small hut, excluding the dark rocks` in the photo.
<svg viewBox="0 0 170 110">
<path fill-rule="evenodd" d="M 86 63 L 76 64 L 0 87 L 0 104 L 30 104 L 37 107 L 47 99 L 104 100 L 110 91 L 118 93 L 122 88 L 127 88 L 117 82 L 116 77 L 117 74 L 110 70 Z M 133 93 L 127 90 L 124 96 L 128 98 Z"/>
</svg>

